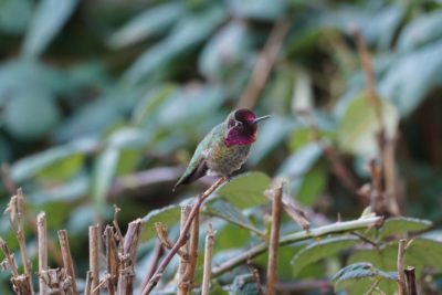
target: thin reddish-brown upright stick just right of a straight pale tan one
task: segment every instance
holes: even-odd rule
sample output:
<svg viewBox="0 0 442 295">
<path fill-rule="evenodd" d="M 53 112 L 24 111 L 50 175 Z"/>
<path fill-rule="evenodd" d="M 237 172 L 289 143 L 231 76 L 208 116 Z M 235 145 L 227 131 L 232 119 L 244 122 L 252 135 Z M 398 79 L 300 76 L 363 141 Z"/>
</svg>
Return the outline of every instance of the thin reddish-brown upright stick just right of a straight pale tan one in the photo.
<svg viewBox="0 0 442 295">
<path fill-rule="evenodd" d="M 114 228 L 107 225 L 104 231 L 106 244 L 106 270 L 107 270 L 107 291 L 109 295 L 115 295 L 118 280 L 118 251 L 115 242 Z"/>
</svg>

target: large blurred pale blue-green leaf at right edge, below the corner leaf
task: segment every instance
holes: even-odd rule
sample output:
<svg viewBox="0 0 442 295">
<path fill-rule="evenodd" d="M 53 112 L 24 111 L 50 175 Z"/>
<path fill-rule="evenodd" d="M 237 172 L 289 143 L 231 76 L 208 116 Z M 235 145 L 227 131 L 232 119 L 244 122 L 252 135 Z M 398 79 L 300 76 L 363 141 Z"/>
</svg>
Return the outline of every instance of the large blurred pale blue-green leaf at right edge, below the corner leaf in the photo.
<svg viewBox="0 0 442 295">
<path fill-rule="evenodd" d="M 403 54 L 379 83 L 379 93 L 398 107 L 401 116 L 410 115 L 428 94 L 442 84 L 442 41 Z M 415 75 L 419 69 L 419 75 Z"/>
</svg>

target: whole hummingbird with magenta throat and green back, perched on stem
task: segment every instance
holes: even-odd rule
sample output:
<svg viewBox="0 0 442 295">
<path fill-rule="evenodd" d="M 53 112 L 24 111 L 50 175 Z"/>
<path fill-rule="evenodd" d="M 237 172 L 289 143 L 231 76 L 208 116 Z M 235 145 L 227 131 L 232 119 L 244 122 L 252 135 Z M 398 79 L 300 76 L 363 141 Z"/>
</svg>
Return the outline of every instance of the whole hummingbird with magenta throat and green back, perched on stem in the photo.
<svg viewBox="0 0 442 295">
<path fill-rule="evenodd" d="M 188 185 L 204 175 L 230 177 L 239 170 L 249 156 L 251 145 L 256 140 L 257 123 L 270 118 L 256 118 L 252 110 L 236 109 L 227 119 L 213 127 L 201 140 L 185 173 L 175 185 Z"/>
</svg>

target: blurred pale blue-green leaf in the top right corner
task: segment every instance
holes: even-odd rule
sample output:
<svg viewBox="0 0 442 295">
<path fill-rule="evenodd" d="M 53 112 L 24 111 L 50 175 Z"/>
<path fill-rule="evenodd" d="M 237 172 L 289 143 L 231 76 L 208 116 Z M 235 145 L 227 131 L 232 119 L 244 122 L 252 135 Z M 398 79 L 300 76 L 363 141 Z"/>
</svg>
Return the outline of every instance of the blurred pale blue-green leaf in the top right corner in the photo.
<svg viewBox="0 0 442 295">
<path fill-rule="evenodd" d="M 414 19 L 406 24 L 401 31 L 398 39 L 398 50 L 407 52 L 439 40 L 442 38 L 441 27 L 442 12 L 440 10 Z"/>
</svg>

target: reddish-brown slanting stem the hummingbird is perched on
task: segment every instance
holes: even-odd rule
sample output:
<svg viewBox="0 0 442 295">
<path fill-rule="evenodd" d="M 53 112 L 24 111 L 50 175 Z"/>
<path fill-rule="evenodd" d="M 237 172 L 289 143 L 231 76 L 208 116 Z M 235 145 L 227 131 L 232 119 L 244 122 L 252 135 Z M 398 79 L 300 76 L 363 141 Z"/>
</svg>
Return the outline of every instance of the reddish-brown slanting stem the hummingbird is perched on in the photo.
<svg viewBox="0 0 442 295">
<path fill-rule="evenodd" d="M 202 194 L 200 194 L 196 201 L 196 203 L 192 207 L 192 210 L 190 211 L 189 218 L 177 240 L 175 243 L 173 247 L 170 250 L 170 252 L 167 254 L 167 256 L 162 260 L 161 264 L 158 266 L 157 271 L 154 273 L 152 277 L 149 280 L 147 285 L 141 289 L 143 295 L 149 294 L 150 291 L 158 284 L 158 281 L 161 278 L 162 273 L 165 272 L 167 265 L 169 265 L 170 261 L 177 253 L 177 251 L 183 245 L 183 243 L 187 240 L 187 234 L 190 230 L 190 226 L 192 224 L 192 221 L 197 214 L 199 214 L 200 207 L 202 202 L 218 188 L 220 187 L 223 182 L 225 182 L 225 178 L 221 177 L 219 178 L 208 190 L 206 190 Z"/>
</svg>

